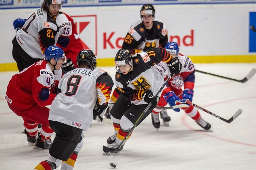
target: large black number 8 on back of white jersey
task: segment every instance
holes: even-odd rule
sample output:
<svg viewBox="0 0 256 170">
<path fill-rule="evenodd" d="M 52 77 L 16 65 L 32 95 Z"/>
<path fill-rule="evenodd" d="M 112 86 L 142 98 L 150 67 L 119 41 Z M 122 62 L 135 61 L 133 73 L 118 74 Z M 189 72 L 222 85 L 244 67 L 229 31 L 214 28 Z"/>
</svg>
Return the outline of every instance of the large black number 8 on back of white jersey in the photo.
<svg viewBox="0 0 256 170">
<path fill-rule="evenodd" d="M 65 92 L 65 95 L 67 96 L 75 95 L 75 93 L 77 92 L 80 80 L 81 80 L 81 76 L 78 76 L 78 75 L 71 76 L 68 79 L 67 91 Z"/>
</svg>

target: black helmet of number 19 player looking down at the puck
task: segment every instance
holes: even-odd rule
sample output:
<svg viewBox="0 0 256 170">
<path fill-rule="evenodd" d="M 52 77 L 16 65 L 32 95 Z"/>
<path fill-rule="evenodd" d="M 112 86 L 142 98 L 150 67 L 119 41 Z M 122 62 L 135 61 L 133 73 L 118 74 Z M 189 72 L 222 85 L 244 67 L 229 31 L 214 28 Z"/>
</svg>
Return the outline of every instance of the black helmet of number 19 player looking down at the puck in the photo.
<svg viewBox="0 0 256 170">
<path fill-rule="evenodd" d="M 130 66 L 132 66 L 132 57 L 133 55 L 128 49 L 119 49 L 116 53 L 116 57 L 114 58 L 114 65 L 116 66 L 117 72 L 122 73 L 119 66 L 123 66 L 125 64 L 130 64 Z"/>
</svg>

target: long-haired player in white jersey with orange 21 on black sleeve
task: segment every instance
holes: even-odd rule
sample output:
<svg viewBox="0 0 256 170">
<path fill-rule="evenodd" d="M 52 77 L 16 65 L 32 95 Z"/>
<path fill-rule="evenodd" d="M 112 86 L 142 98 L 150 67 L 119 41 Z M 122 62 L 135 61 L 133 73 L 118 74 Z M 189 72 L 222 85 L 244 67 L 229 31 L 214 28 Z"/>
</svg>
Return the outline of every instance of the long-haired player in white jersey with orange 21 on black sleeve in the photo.
<svg viewBox="0 0 256 170">
<path fill-rule="evenodd" d="M 56 45 L 59 30 L 55 20 L 61 5 L 62 0 L 44 0 L 42 7 L 16 32 L 12 40 L 12 57 L 19 71 L 44 59 L 45 49 Z M 19 26 L 18 23 L 14 25 Z"/>
</svg>

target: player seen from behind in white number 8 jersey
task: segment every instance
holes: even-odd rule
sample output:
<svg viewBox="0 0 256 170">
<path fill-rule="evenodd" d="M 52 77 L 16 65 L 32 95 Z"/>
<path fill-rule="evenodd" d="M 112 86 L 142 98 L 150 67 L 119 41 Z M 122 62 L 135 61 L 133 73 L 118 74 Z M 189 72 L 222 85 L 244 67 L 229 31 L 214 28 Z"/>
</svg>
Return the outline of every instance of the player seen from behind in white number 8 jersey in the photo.
<svg viewBox="0 0 256 170">
<path fill-rule="evenodd" d="M 50 107 L 49 122 L 55 131 L 49 155 L 34 170 L 72 170 L 82 148 L 82 131 L 87 131 L 93 114 L 100 115 L 108 105 L 113 80 L 96 69 L 91 50 L 81 50 L 78 68 L 66 73 L 59 83 L 60 93 Z"/>
</svg>

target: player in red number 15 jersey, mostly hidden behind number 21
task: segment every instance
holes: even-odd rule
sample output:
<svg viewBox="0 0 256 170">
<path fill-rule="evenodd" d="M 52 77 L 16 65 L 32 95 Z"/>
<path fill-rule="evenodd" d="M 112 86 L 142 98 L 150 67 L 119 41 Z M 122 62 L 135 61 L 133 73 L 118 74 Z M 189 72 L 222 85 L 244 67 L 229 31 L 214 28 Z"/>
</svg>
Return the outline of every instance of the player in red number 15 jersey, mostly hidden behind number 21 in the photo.
<svg viewBox="0 0 256 170">
<path fill-rule="evenodd" d="M 44 0 L 44 5 L 50 11 L 52 0 Z M 67 57 L 67 63 L 62 65 L 62 73 L 66 73 L 77 68 L 77 55 L 83 49 L 82 42 L 77 34 L 74 20 L 66 13 L 58 11 L 56 16 L 56 24 L 59 29 L 59 38 L 57 46 L 63 49 Z M 14 29 L 22 27 L 27 19 L 15 19 Z"/>
</svg>

